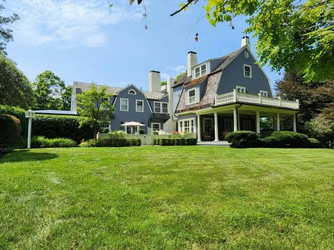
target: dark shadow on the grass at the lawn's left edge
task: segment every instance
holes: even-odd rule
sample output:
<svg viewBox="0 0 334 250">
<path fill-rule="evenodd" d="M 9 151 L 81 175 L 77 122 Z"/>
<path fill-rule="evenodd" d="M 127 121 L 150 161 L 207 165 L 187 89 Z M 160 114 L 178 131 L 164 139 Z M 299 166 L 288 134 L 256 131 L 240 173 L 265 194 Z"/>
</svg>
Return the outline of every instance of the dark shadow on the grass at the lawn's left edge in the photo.
<svg viewBox="0 0 334 250">
<path fill-rule="evenodd" d="M 51 160 L 58 158 L 56 153 L 35 153 L 29 150 L 19 150 L 7 153 L 3 158 L 0 158 L 1 163 L 20 163 L 26 161 L 40 161 L 40 160 Z"/>
</svg>

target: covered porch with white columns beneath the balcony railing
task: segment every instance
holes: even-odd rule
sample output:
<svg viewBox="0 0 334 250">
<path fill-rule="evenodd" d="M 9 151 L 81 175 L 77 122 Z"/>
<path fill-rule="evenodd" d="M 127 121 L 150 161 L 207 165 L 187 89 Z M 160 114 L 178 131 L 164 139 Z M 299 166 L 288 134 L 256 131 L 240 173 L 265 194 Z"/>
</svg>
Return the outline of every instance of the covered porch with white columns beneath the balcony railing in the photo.
<svg viewBox="0 0 334 250">
<path fill-rule="evenodd" d="M 296 113 L 289 108 L 271 108 L 266 106 L 233 103 L 225 106 L 207 108 L 196 112 L 196 129 L 198 142 L 225 140 L 231 131 L 254 131 L 261 133 L 260 119 L 269 118 L 272 129 L 280 131 L 280 119 L 292 117 L 292 131 L 296 132 Z"/>
</svg>

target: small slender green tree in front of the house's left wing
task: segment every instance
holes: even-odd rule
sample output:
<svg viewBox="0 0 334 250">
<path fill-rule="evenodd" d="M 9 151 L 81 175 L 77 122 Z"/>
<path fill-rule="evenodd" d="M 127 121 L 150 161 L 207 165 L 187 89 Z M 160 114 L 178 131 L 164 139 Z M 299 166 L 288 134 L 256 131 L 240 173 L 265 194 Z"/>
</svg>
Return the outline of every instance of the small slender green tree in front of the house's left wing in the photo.
<svg viewBox="0 0 334 250">
<path fill-rule="evenodd" d="M 94 139 L 99 130 L 101 122 L 109 122 L 110 116 L 113 114 L 113 106 L 111 106 L 109 97 L 111 94 L 106 93 L 106 88 L 97 89 L 95 84 L 82 94 L 77 94 L 77 111 L 83 119 L 81 119 L 80 127 L 89 124 L 94 128 Z"/>
</svg>

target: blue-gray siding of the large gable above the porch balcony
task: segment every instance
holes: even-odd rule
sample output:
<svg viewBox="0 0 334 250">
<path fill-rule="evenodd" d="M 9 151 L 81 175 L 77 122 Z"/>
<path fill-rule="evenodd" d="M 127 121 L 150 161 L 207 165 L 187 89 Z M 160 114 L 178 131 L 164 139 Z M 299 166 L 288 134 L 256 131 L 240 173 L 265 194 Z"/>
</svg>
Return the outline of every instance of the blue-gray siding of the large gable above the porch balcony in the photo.
<svg viewBox="0 0 334 250">
<path fill-rule="evenodd" d="M 249 57 L 245 58 L 245 48 L 232 62 L 223 69 L 221 82 L 219 83 L 217 94 L 225 94 L 232 92 L 236 85 L 246 88 L 249 94 L 258 94 L 260 90 L 268 92 L 268 96 L 272 97 L 271 88 L 268 78 L 262 72 L 260 67 L 255 64 L 255 58 L 248 51 Z M 244 77 L 244 64 L 252 67 L 252 78 Z"/>
</svg>

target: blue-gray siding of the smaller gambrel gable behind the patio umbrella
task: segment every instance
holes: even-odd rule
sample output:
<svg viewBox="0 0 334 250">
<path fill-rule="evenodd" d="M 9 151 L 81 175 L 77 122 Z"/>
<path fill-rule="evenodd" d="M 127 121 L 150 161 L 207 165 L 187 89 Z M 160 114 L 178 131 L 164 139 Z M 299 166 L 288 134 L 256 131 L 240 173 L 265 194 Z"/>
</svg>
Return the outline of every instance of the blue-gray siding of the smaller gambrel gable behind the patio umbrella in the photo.
<svg viewBox="0 0 334 250">
<path fill-rule="evenodd" d="M 136 95 L 128 94 L 127 92 L 130 89 L 136 90 Z M 129 99 L 129 111 L 120 111 L 120 98 Z M 144 112 L 136 112 L 136 99 L 141 99 L 144 101 Z M 130 85 L 124 90 L 118 93 L 118 97 L 115 103 L 115 118 L 111 120 L 111 130 L 120 130 L 123 129 L 120 125 L 124 122 L 140 122 L 145 124 L 145 133 L 148 132 L 148 126 L 150 121 L 150 107 L 143 93 L 141 93 L 138 88 L 134 85 Z"/>
</svg>

